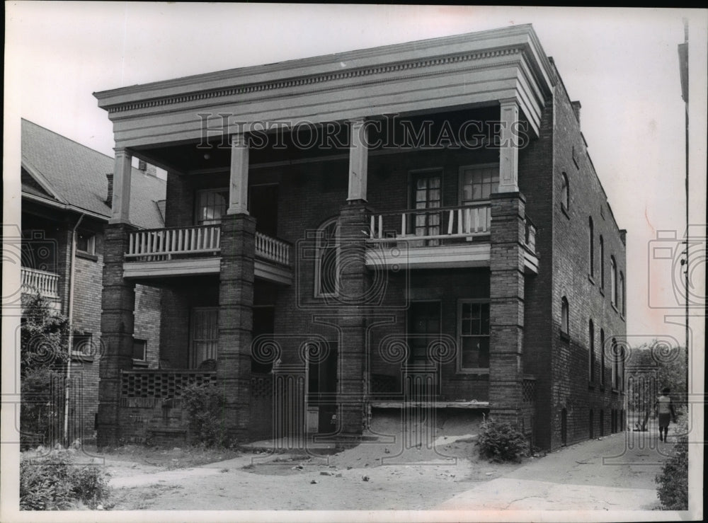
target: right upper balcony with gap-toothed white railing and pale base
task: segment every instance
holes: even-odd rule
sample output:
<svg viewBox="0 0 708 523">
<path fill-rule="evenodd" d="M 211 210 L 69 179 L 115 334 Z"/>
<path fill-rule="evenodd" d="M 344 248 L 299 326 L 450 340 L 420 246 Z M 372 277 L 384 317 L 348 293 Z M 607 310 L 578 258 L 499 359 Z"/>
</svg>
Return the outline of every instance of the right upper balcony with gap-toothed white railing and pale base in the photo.
<svg viewBox="0 0 708 523">
<path fill-rule="evenodd" d="M 370 268 L 489 267 L 489 203 L 372 214 L 366 265 Z M 536 228 L 526 220 L 525 269 L 538 273 Z"/>
</svg>

